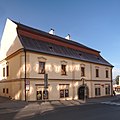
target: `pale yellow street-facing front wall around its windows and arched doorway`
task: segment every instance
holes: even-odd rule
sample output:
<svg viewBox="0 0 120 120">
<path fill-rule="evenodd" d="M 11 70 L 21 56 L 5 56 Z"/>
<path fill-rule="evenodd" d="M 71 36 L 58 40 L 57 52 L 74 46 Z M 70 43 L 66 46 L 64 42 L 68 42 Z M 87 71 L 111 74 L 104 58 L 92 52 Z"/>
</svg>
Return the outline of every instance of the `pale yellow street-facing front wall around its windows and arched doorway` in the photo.
<svg viewBox="0 0 120 120">
<path fill-rule="evenodd" d="M 46 71 L 48 73 L 48 78 L 51 80 L 50 85 L 52 86 L 52 93 L 50 93 L 50 98 L 49 99 L 59 99 L 59 92 L 56 92 L 56 86 L 59 85 L 60 83 L 62 84 L 63 82 L 66 84 L 70 84 L 73 86 L 73 84 L 75 85 L 74 87 L 74 98 L 77 98 L 78 96 L 78 88 L 80 85 L 82 85 L 82 81 L 81 80 L 81 72 L 80 72 L 80 66 L 81 64 L 85 65 L 85 78 L 86 80 L 89 81 L 85 81 L 85 84 L 87 84 L 88 88 L 89 88 L 89 97 L 95 97 L 95 84 L 100 84 L 100 85 L 105 85 L 105 84 L 111 84 L 111 67 L 106 67 L 103 65 L 98 65 L 98 64 L 92 64 L 92 63 L 86 63 L 86 62 L 81 62 L 81 61 L 77 61 L 77 60 L 70 60 L 70 59 L 65 59 L 65 58 L 60 58 L 60 57 L 54 57 L 54 56 L 48 56 L 48 55 L 40 55 L 40 54 L 34 54 L 34 53 L 27 53 L 27 55 L 29 57 L 27 57 L 29 60 L 28 62 L 28 75 L 30 78 L 38 78 L 40 81 L 41 79 L 44 78 L 44 75 L 38 74 L 38 57 L 44 57 L 46 59 Z M 67 62 L 67 76 L 62 76 L 61 75 L 61 71 L 60 71 L 60 66 L 61 66 L 61 61 L 66 61 Z M 56 71 L 55 66 L 58 67 L 58 71 Z M 74 66 L 73 68 L 71 68 L 71 66 Z M 76 67 L 77 66 L 77 67 Z M 99 67 L 99 77 L 96 78 L 95 77 L 95 68 Z M 74 70 L 73 70 L 74 69 Z M 109 71 L 109 77 L 106 78 L 105 76 L 105 70 Z M 74 72 L 73 72 L 74 71 Z M 52 79 L 59 79 L 56 82 L 52 82 Z M 69 82 L 67 81 L 67 79 L 69 80 Z M 72 80 L 78 80 L 76 82 L 72 82 Z M 90 81 L 92 80 L 92 81 Z M 95 81 L 94 81 L 95 80 Z M 96 80 L 98 80 L 98 82 L 96 82 Z M 107 82 L 106 82 L 107 80 Z M 109 82 L 108 82 L 109 81 Z M 37 83 L 37 81 L 34 82 L 34 84 Z M 32 85 L 32 87 L 34 88 L 34 91 L 36 92 L 36 87 L 35 85 Z M 70 97 L 73 97 L 73 87 L 70 87 L 69 89 L 70 91 Z M 33 94 L 34 99 L 36 98 L 36 94 Z M 105 88 L 103 88 L 101 86 L 101 96 L 105 96 Z"/>
</svg>

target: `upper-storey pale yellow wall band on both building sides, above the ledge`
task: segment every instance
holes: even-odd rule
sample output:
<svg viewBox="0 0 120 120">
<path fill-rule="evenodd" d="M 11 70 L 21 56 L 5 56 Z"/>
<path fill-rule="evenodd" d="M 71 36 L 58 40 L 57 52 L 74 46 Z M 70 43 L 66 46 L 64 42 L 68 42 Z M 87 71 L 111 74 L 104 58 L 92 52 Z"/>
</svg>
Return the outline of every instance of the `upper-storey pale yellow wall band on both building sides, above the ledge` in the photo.
<svg viewBox="0 0 120 120">
<path fill-rule="evenodd" d="M 43 74 L 38 74 L 38 61 L 40 57 L 44 57 L 46 60 L 46 73 L 48 73 L 49 79 L 70 79 L 70 80 L 81 80 L 84 78 L 86 80 L 111 80 L 111 68 L 106 67 L 103 65 L 92 64 L 87 62 L 81 62 L 77 60 L 71 60 L 61 57 L 54 57 L 49 55 L 41 55 L 41 54 L 34 54 L 27 52 L 26 55 L 26 71 L 27 71 L 27 78 L 38 78 L 43 79 Z M 1 76 L 3 73 L 3 67 L 6 66 L 6 63 L 9 65 L 9 76 L 7 79 L 16 79 L 16 78 L 24 78 L 25 75 L 25 54 L 22 52 L 7 61 L 3 61 L 1 63 Z M 61 75 L 61 61 L 65 61 L 67 64 L 67 75 Z M 85 66 L 85 77 L 81 77 L 81 65 L 84 64 Z M 95 76 L 95 69 L 96 66 L 99 67 L 99 77 Z M 106 78 L 105 70 L 109 71 L 109 77 Z M 2 78 L 2 77 L 1 77 Z M 4 78 L 2 78 L 4 79 Z M 5 77 L 6 79 L 6 77 Z"/>
</svg>

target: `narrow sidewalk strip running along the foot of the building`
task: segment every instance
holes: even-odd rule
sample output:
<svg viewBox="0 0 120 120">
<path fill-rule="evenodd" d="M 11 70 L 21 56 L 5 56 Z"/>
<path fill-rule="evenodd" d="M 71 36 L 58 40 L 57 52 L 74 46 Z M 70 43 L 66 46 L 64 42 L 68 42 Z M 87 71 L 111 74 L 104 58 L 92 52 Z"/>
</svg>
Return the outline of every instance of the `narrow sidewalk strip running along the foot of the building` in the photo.
<svg viewBox="0 0 120 120">
<path fill-rule="evenodd" d="M 85 101 L 81 100 L 57 100 L 57 101 L 47 101 L 47 102 L 26 102 L 26 101 L 16 101 L 16 100 L 10 100 L 6 97 L 0 96 L 0 108 L 22 108 L 26 105 L 30 104 L 38 104 L 41 106 L 54 106 L 54 107 L 64 107 L 64 106 L 75 106 L 75 105 L 81 105 L 81 104 L 90 104 L 90 103 L 100 103 L 100 102 L 106 102 L 106 101 L 119 101 L 120 102 L 120 96 L 108 96 L 108 97 L 101 97 L 101 98 L 90 98 L 87 99 L 86 103 Z"/>
</svg>

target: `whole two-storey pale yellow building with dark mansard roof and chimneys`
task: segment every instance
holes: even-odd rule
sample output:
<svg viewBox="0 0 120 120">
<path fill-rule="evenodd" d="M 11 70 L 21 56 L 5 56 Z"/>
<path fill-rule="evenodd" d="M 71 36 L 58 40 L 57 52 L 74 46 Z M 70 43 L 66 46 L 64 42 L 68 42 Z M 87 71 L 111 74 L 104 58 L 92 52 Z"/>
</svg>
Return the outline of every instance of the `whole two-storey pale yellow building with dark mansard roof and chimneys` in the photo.
<svg viewBox="0 0 120 120">
<path fill-rule="evenodd" d="M 112 68 L 100 52 L 7 19 L 0 50 L 0 96 L 71 100 L 112 95 Z M 44 82 L 48 75 L 48 82 Z"/>
</svg>

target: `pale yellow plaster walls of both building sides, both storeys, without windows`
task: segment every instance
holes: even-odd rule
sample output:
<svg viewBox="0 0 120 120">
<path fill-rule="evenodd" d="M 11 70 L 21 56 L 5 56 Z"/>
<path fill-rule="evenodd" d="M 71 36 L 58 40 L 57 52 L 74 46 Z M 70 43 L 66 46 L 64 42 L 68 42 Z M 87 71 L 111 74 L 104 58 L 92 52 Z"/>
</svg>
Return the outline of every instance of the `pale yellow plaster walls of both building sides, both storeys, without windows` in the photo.
<svg viewBox="0 0 120 120">
<path fill-rule="evenodd" d="M 85 66 L 85 84 L 89 88 L 89 97 L 95 97 L 95 84 L 100 84 L 101 88 L 101 96 L 105 96 L 105 84 L 111 84 L 110 79 L 110 67 L 106 67 L 103 65 L 95 65 L 92 63 L 81 62 L 77 60 L 70 60 L 60 57 L 54 57 L 49 55 L 42 54 L 34 54 L 27 52 L 27 78 L 31 78 L 30 80 L 30 90 L 27 92 L 27 100 L 34 101 L 36 100 L 36 84 L 44 84 L 44 75 L 38 74 L 38 57 L 44 57 L 46 59 L 46 71 L 48 73 L 49 79 L 49 100 L 59 100 L 59 84 L 69 84 L 69 98 L 67 99 L 78 99 L 78 88 L 83 84 L 81 81 L 81 71 L 80 66 L 84 64 Z M 13 82 L 2 83 L 1 88 L 8 86 L 11 89 L 11 93 L 5 96 L 12 96 L 15 99 L 25 99 L 24 92 L 24 81 L 15 82 L 19 80 L 19 78 L 24 78 L 25 72 L 25 54 L 24 52 L 14 56 L 13 58 L 3 61 L 2 66 L 6 65 L 8 62 L 10 68 L 10 76 L 8 78 L 4 78 L 9 80 L 13 80 Z M 61 75 L 61 61 L 67 62 L 67 76 Z M 58 67 L 58 71 L 56 71 L 56 67 Z M 98 78 L 95 77 L 95 67 L 99 67 L 100 76 Z M 109 78 L 105 76 L 105 70 L 109 70 Z M 92 73 L 91 73 L 92 70 Z M 92 80 L 92 81 L 91 81 Z M 97 82 L 98 81 L 98 82 Z M 43 86 L 44 87 L 44 86 Z M 1 90 L 2 91 L 2 90 Z M 1 93 L 2 94 L 2 93 Z M 3 94 L 2 94 L 3 95 Z"/>
</svg>

